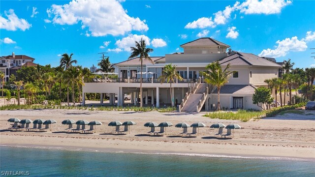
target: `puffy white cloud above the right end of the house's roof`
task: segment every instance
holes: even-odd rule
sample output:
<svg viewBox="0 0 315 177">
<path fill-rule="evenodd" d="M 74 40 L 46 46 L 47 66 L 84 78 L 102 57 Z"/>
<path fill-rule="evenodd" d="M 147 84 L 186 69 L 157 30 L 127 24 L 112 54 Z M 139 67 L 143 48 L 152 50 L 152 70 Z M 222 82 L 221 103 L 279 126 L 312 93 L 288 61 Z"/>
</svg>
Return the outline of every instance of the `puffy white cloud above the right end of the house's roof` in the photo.
<svg viewBox="0 0 315 177">
<path fill-rule="evenodd" d="M 296 36 L 290 38 L 285 38 L 284 40 L 278 40 L 276 49 L 264 49 L 258 56 L 264 57 L 284 57 L 290 51 L 305 51 L 307 49 L 306 42 L 298 40 Z"/>
</svg>

